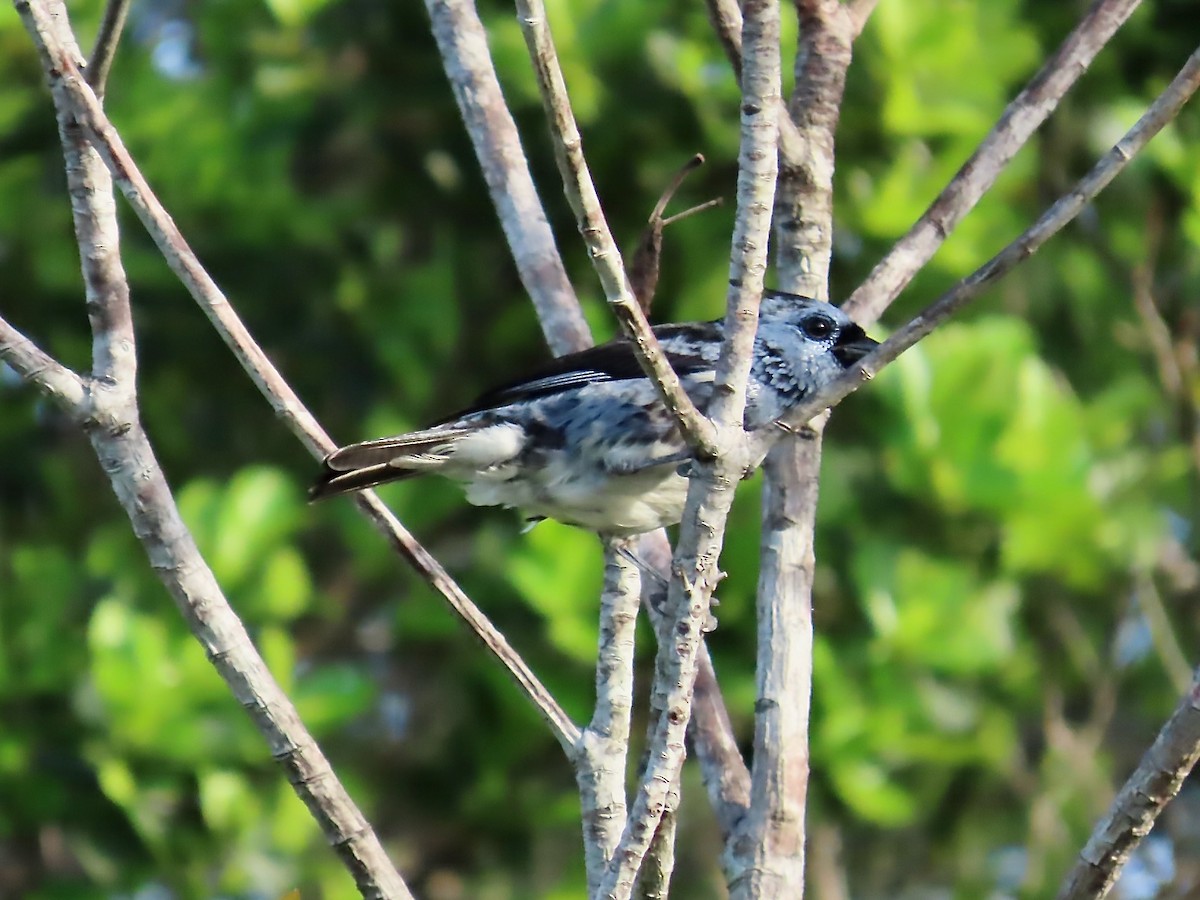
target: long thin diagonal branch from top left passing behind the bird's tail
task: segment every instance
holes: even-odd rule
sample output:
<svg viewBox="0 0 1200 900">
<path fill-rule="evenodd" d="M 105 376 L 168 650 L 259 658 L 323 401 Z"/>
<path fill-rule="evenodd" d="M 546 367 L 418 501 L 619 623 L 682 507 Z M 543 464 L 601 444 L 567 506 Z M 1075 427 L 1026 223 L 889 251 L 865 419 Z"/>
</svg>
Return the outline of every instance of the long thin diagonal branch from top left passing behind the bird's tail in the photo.
<svg viewBox="0 0 1200 900">
<path fill-rule="evenodd" d="M 18 0 L 19 10 L 29 10 L 31 6 L 36 7 L 28 0 Z M 83 80 L 79 70 L 44 29 L 38 31 L 37 40 L 44 42 L 43 46 L 53 64 L 50 70 L 52 90 L 61 95 L 64 102 L 71 104 L 80 124 L 86 128 L 92 144 L 113 173 L 118 187 L 133 206 L 155 244 L 158 245 L 167 264 L 209 316 L 222 340 L 270 402 L 276 415 L 314 456 L 319 458 L 330 452 L 335 446 L 334 442 L 312 413 L 300 402 L 295 391 L 287 384 L 266 354 L 258 347 L 224 294 L 200 265 L 182 233 L 172 221 L 158 198 L 150 191 L 137 164 L 121 143 L 120 136 L 100 108 L 95 94 Z M 578 727 L 571 722 L 550 691 L 511 648 L 499 630 L 458 588 L 437 560 L 401 526 L 373 492 L 359 494 L 358 505 L 368 514 L 371 522 L 443 595 L 450 607 L 509 670 L 546 719 L 554 737 L 570 752 L 578 739 Z"/>
</svg>

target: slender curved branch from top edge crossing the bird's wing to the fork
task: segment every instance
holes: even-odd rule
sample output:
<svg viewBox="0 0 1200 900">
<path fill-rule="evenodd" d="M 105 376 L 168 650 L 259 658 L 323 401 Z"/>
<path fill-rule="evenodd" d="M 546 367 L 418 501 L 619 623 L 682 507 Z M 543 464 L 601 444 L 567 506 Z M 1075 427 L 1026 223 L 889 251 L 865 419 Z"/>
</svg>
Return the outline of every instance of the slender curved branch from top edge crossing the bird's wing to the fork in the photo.
<svg viewBox="0 0 1200 900">
<path fill-rule="evenodd" d="M 558 65 L 558 53 L 554 50 L 546 23 L 546 7 L 542 0 L 516 0 L 516 7 L 538 76 L 542 106 L 554 137 L 554 158 L 558 162 L 566 199 L 575 212 L 575 221 L 580 234 L 583 235 L 592 264 L 600 276 L 605 298 L 612 306 L 625 336 L 632 341 L 642 370 L 654 382 L 659 396 L 674 418 L 688 445 L 701 457 L 712 458 L 716 455 L 713 426 L 684 392 L 679 377 L 671 368 L 654 332 L 650 331 L 650 324 L 646 320 L 646 314 L 638 306 L 634 289 L 625 276 L 620 251 L 608 229 L 608 222 L 600 206 L 600 197 L 583 158 L 583 139 L 580 137 L 575 114 L 571 112 L 566 84 L 563 82 L 563 70 Z"/>
</svg>

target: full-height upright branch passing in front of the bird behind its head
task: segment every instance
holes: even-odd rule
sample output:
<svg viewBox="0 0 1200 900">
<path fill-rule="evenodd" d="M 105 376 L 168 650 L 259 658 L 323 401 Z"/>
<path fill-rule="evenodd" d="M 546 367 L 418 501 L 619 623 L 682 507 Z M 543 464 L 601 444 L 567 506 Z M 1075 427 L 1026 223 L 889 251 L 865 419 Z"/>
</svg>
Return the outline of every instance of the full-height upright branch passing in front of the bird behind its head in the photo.
<svg viewBox="0 0 1200 900">
<path fill-rule="evenodd" d="M 604 898 L 618 900 L 630 895 L 683 766 L 683 739 L 691 714 L 697 654 L 709 620 L 713 590 L 721 578 L 716 559 L 733 488 L 749 458 L 743 455 L 746 442 L 742 416 L 775 187 L 778 127 L 774 120 L 780 107 L 775 100 L 780 90 L 778 4 L 748 0 L 742 42 L 746 61 L 742 77 L 738 226 L 730 266 L 727 340 L 718 366 L 721 390 L 712 409 L 721 452 L 712 462 L 701 461 L 688 487 L 674 577 L 667 589 L 668 640 L 660 641 L 655 656 L 653 706 L 662 713 L 654 725 L 648 763 L 630 809 L 629 823 L 600 892 Z M 750 296 L 756 289 L 758 293 Z"/>
</svg>

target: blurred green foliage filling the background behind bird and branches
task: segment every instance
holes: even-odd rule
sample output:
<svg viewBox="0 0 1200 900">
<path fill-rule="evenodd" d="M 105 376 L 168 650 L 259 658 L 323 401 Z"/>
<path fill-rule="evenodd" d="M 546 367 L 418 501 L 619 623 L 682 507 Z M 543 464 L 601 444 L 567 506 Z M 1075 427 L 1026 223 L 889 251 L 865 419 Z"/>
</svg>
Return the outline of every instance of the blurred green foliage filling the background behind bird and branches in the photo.
<svg viewBox="0 0 1200 900">
<path fill-rule="evenodd" d="M 625 245 L 697 150 L 709 166 L 686 199 L 731 197 L 737 90 L 702 5 L 550 6 Z M 1082 7 L 878 6 L 839 132 L 835 296 L 920 214 Z M 503 4 L 481 11 L 605 337 L 520 31 Z M 72 12 L 86 46 L 101 6 Z M 794 23 L 786 30 L 794 47 Z M 1192 4 L 1140 10 L 888 322 L 1069 187 L 1198 36 Z M 142 4 L 108 108 L 340 438 L 428 420 L 542 353 L 419 5 Z M 834 416 L 817 547 L 817 900 L 836 896 L 839 880 L 856 898 L 1052 895 L 1174 704 L 1177 661 L 1194 660 L 1200 631 L 1196 148 L 1193 109 L 1076 226 Z M 656 318 L 720 313 L 731 221 L 726 205 L 671 227 Z M 581 896 L 574 782 L 536 715 L 349 504 L 304 504 L 312 462 L 130 215 L 124 242 L 143 418 L 184 515 L 414 889 Z M 1139 289 L 1169 329 L 1174 370 Z M 0 12 L 0 312 L 86 368 L 54 120 L 11 8 Z M 0 895 L 353 896 L 170 608 L 86 443 L 0 376 Z M 748 743 L 756 490 L 734 510 L 710 637 Z M 553 523 L 521 535 L 514 515 L 470 509 L 436 481 L 386 498 L 587 715 L 596 541 Z M 677 889 L 720 896 L 715 826 L 689 786 Z M 1200 868 L 1194 806 L 1186 792 L 1152 845 L 1181 886 Z M 1126 898 L 1153 895 L 1152 862 L 1135 866 Z"/>
</svg>

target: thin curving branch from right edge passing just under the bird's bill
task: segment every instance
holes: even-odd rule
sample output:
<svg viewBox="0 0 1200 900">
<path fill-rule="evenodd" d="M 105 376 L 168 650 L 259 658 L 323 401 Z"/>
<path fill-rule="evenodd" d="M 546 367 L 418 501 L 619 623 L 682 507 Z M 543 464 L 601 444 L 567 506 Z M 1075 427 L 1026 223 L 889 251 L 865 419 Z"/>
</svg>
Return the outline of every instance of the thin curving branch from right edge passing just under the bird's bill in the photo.
<svg viewBox="0 0 1200 900">
<path fill-rule="evenodd" d="M 936 302 L 925 308 L 904 328 L 899 329 L 872 353 L 868 354 L 853 368 L 838 380 L 818 390 L 811 397 L 797 406 L 780 422 L 786 430 L 798 430 L 804 422 L 827 409 L 848 394 L 857 390 L 864 382 L 874 378 L 886 365 L 901 353 L 925 337 L 935 328 L 978 296 L 991 282 L 1009 272 L 1014 266 L 1027 259 L 1046 240 L 1057 234 L 1070 222 L 1114 178 L 1116 178 L 1134 156 L 1162 128 L 1178 115 L 1188 98 L 1200 88 L 1200 50 L 1193 53 L 1180 73 L 1171 79 L 1157 100 L 1134 124 L 1134 126 L 1092 167 L 1080 181 L 1057 203 L 1048 209 L 1042 217 L 1030 226 L 1020 236 L 1012 241 L 1000 253 L 988 260 L 974 272 L 962 278 L 950 290 L 942 294 Z M 763 436 L 766 443 L 769 438 Z"/>
</svg>

